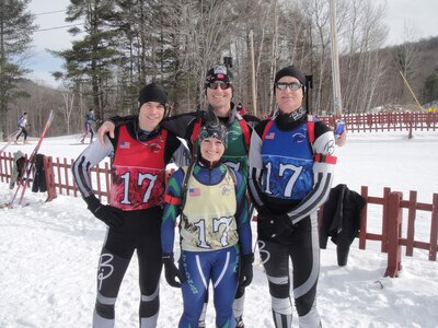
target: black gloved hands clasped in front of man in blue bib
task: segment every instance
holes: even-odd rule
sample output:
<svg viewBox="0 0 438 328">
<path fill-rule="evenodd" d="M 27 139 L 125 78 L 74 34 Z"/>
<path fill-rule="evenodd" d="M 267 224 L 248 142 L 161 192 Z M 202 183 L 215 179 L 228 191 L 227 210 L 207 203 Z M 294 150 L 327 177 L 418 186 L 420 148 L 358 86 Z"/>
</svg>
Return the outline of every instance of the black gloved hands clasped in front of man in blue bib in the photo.
<svg viewBox="0 0 438 328">
<path fill-rule="evenodd" d="M 292 224 L 286 213 L 274 214 L 266 209 L 261 209 L 258 212 L 257 222 L 261 230 L 272 238 L 275 238 L 279 235 L 290 235 L 296 229 L 296 225 Z"/>
</svg>

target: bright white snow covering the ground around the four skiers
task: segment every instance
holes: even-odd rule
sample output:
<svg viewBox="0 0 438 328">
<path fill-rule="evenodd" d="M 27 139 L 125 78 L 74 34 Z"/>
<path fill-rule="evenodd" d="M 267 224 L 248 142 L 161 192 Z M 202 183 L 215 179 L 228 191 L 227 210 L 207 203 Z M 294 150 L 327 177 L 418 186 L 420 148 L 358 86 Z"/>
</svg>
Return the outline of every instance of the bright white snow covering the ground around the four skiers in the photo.
<svg viewBox="0 0 438 328">
<path fill-rule="evenodd" d="M 48 138 L 41 153 L 76 157 L 85 147 L 78 144 L 79 139 Z M 30 153 L 32 148 L 10 145 L 8 151 Z M 349 133 L 337 155 L 334 186 L 343 183 L 356 191 L 369 186 L 369 195 L 376 197 L 382 196 L 383 187 L 405 197 L 417 190 L 418 201 L 428 203 L 438 192 L 438 132 L 415 132 L 411 140 L 407 132 Z M 0 211 L 0 327 L 91 327 L 105 226 L 80 198 L 58 196 L 45 203 L 46 195 L 27 191 L 30 206 Z M 0 183 L 0 202 L 11 194 Z M 380 232 L 381 210 L 371 207 L 370 213 L 371 231 Z M 420 213 L 417 236 L 427 241 L 429 226 L 430 213 Z M 387 259 L 377 242 L 367 242 L 367 250 L 355 242 L 344 268 L 337 267 L 331 242 L 321 255 L 318 306 L 323 327 L 438 327 L 438 263 L 427 260 L 426 250 L 415 250 L 413 258 L 403 256 L 396 279 L 383 278 Z M 257 260 L 256 254 L 245 323 L 247 328 L 272 328 L 267 280 Z M 137 276 L 132 260 L 116 304 L 117 327 L 138 326 Z M 177 327 L 181 313 L 180 290 L 162 279 L 159 327 Z M 214 327 L 212 304 L 207 315 L 208 327 Z M 297 323 L 295 316 L 293 327 Z"/>
</svg>

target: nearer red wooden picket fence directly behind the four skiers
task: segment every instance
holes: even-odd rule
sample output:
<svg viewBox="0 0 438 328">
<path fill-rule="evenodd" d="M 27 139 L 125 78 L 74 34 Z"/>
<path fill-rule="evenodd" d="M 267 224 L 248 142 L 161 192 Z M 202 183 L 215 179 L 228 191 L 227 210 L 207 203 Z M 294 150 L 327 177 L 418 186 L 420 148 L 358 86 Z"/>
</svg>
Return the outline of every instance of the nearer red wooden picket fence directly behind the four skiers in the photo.
<svg viewBox="0 0 438 328">
<path fill-rule="evenodd" d="M 59 160 L 58 157 L 53 161 L 48 157 L 51 169 L 51 185 L 55 190 L 55 197 L 51 196 L 48 200 L 56 198 L 58 194 L 79 197 L 78 187 L 73 184 L 71 166 L 73 160 L 67 159 Z M 8 155 L 0 154 L 0 180 L 9 183 L 12 172 L 13 156 L 11 153 Z M 47 176 L 47 172 L 46 172 Z M 91 179 L 95 195 L 102 199 L 108 197 L 108 186 L 111 184 L 111 169 L 108 163 L 103 163 L 92 168 Z M 32 181 L 32 178 L 28 183 Z M 381 251 L 388 254 L 388 267 L 385 276 L 397 277 L 401 269 L 401 246 L 405 246 L 406 256 L 413 256 L 414 248 L 428 250 L 428 259 L 437 259 L 437 234 L 438 234 L 438 194 L 434 194 L 433 203 L 417 202 L 417 191 L 411 191 L 408 199 L 403 199 L 401 192 L 391 191 L 390 188 L 384 188 L 382 197 L 374 197 L 368 195 L 368 187 L 361 188 L 361 196 L 366 199 L 367 204 L 361 212 L 361 225 L 358 235 L 359 248 L 366 249 L 367 241 L 378 241 L 381 243 Z M 368 207 L 371 204 L 382 206 L 382 226 L 381 232 L 371 233 L 368 231 Z M 407 210 L 407 230 L 403 235 L 403 223 L 406 221 L 403 218 L 403 209 Z M 429 241 L 418 241 L 415 237 L 415 223 L 417 220 L 418 211 L 430 212 L 430 232 Z"/>
</svg>

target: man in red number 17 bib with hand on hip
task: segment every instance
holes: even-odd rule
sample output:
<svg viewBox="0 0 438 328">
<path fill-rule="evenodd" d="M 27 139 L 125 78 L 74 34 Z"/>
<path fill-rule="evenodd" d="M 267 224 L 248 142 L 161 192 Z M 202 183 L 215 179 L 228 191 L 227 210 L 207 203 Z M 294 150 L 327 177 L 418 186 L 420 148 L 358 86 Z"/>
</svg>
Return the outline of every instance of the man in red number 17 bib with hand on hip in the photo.
<svg viewBox="0 0 438 328">
<path fill-rule="evenodd" d="M 119 125 L 106 145 L 90 144 L 76 160 L 74 181 L 89 210 L 107 225 L 97 269 L 97 297 L 93 327 L 114 327 L 114 305 L 134 250 L 139 265 L 142 328 L 157 327 L 162 268 L 160 227 L 165 166 L 186 164 L 181 141 L 160 126 L 168 108 L 164 89 L 151 83 L 140 90 L 136 120 Z M 110 204 L 94 196 L 90 169 L 111 157 Z"/>
</svg>

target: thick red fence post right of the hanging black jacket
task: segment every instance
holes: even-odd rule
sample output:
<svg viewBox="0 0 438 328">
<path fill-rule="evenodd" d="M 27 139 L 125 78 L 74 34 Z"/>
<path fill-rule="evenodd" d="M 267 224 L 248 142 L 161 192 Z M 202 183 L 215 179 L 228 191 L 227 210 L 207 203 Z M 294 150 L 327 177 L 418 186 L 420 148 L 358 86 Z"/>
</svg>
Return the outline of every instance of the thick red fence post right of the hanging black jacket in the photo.
<svg viewBox="0 0 438 328">
<path fill-rule="evenodd" d="M 388 209 L 388 267 L 384 277 L 396 278 L 402 268 L 402 247 L 399 238 L 402 236 L 403 211 L 400 207 L 402 192 L 390 192 Z"/>
</svg>

